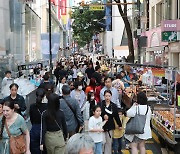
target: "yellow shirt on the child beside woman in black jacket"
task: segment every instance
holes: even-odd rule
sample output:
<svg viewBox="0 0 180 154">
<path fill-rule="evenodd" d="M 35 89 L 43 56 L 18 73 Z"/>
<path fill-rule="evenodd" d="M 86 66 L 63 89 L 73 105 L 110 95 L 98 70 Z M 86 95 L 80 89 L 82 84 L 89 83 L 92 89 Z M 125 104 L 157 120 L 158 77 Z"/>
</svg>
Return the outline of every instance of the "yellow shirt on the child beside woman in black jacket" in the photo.
<svg viewBox="0 0 180 154">
<path fill-rule="evenodd" d="M 125 127 L 126 127 L 126 123 L 128 121 L 128 117 L 125 117 L 124 115 L 119 116 L 121 123 L 122 123 L 122 129 L 119 129 L 119 126 L 117 125 L 116 121 L 114 120 L 115 123 L 115 130 L 114 130 L 114 135 L 113 138 L 121 138 L 123 137 L 124 133 L 125 133 Z"/>
</svg>

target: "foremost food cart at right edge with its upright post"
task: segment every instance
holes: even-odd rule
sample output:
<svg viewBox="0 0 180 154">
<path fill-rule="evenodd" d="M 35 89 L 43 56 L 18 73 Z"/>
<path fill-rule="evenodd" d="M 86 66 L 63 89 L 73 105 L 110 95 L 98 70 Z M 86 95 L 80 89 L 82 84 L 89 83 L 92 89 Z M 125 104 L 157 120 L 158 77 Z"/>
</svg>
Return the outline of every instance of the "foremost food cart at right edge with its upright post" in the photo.
<svg viewBox="0 0 180 154">
<path fill-rule="evenodd" d="M 179 100 L 176 94 L 176 84 L 178 71 L 176 68 L 171 68 L 167 80 L 168 84 L 174 83 L 173 97 L 168 95 L 170 103 L 167 105 L 157 104 L 154 106 L 152 115 L 152 127 L 157 132 L 161 144 L 168 143 L 168 146 L 173 147 L 174 152 L 180 152 L 180 107 Z M 171 81 L 171 82 L 169 82 Z M 169 93 L 171 86 L 168 86 Z"/>
</svg>

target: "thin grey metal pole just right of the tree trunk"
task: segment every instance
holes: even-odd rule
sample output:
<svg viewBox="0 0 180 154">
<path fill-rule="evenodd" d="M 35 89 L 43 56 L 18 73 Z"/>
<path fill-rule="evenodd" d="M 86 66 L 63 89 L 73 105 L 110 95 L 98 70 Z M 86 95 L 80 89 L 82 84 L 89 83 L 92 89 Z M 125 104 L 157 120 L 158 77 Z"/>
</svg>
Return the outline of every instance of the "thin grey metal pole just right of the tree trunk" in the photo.
<svg viewBox="0 0 180 154">
<path fill-rule="evenodd" d="M 138 9 L 138 25 L 137 25 L 137 30 L 141 29 L 141 20 L 140 20 L 140 11 L 141 11 L 141 5 L 140 5 L 140 0 L 137 0 L 137 9 Z M 141 47 L 140 47 L 140 37 L 141 35 L 138 34 L 138 63 L 140 64 L 140 57 L 141 57 Z"/>
</svg>

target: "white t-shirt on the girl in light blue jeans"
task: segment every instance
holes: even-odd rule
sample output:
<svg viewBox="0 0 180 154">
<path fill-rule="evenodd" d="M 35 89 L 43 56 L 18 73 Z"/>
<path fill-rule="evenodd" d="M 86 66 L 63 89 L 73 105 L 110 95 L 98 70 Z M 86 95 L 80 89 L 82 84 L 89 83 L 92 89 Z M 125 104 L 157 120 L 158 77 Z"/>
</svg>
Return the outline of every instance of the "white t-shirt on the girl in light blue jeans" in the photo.
<svg viewBox="0 0 180 154">
<path fill-rule="evenodd" d="M 103 122 L 102 117 L 95 118 L 94 116 L 90 117 L 88 129 L 102 129 Z M 95 143 L 99 143 L 103 141 L 103 132 L 89 132 L 89 136 L 94 140 Z"/>
</svg>

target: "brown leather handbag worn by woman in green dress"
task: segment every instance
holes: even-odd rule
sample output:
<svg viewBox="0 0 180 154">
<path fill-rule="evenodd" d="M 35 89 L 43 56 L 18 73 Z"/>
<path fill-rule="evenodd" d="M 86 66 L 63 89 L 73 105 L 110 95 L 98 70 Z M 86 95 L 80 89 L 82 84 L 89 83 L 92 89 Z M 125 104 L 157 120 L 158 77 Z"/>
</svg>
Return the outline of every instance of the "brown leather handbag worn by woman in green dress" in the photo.
<svg viewBox="0 0 180 154">
<path fill-rule="evenodd" d="M 26 142 L 24 139 L 24 135 L 21 134 L 19 136 L 12 136 L 9 132 L 9 128 L 7 123 L 5 122 L 5 127 L 7 130 L 7 134 L 9 136 L 9 144 L 10 144 L 10 153 L 11 154 L 23 154 L 26 152 Z"/>
</svg>

